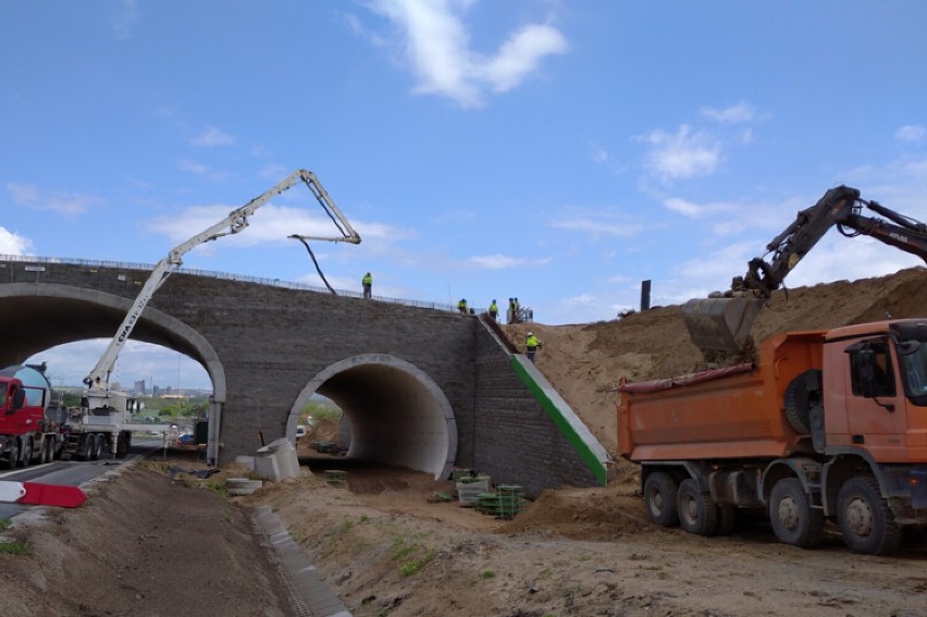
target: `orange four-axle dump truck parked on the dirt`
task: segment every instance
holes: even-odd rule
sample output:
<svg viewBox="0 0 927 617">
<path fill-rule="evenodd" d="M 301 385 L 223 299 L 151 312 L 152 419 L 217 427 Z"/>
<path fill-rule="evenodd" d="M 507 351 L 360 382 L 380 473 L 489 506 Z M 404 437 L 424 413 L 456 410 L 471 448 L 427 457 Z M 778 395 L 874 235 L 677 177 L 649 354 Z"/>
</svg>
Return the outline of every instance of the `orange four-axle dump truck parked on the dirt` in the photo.
<svg viewBox="0 0 927 617">
<path fill-rule="evenodd" d="M 927 319 L 780 334 L 756 366 L 619 391 L 618 449 L 656 525 L 725 534 L 750 509 L 814 546 L 830 519 L 874 555 L 927 525 Z"/>
</svg>

